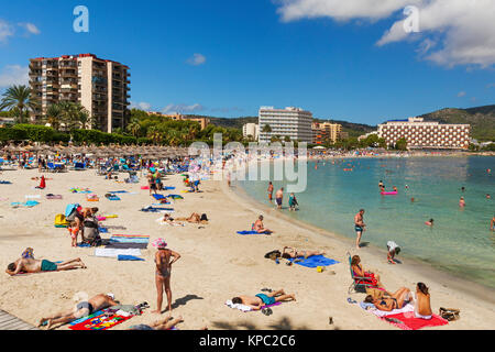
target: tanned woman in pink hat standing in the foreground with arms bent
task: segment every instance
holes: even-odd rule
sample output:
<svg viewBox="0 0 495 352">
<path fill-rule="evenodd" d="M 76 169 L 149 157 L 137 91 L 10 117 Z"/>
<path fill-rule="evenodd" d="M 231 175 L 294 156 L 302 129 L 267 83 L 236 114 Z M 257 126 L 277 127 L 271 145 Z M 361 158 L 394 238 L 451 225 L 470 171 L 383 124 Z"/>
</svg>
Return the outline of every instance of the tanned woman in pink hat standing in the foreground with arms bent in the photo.
<svg viewBox="0 0 495 352">
<path fill-rule="evenodd" d="M 180 254 L 177 252 L 174 252 L 172 250 L 168 250 L 167 243 L 164 239 L 157 239 L 153 242 L 153 246 L 157 248 L 158 251 L 155 254 L 155 264 L 156 264 L 156 271 L 155 271 L 155 283 L 156 283 L 156 292 L 157 292 L 157 299 L 156 299 L 156 310 L 153 312 L 162 314 L 162 302 L 163 302 L 163 292 L 165 289 L 165 293 L 167 295 L 167 301 L 168 301 L 168 314 L 172 314 L 172 290 L 170 290 L 170 272 L 172 272 L 172 264 L 177 262 L 180 258 Z M 170 257 L 174 257 L 170 261 Z"/>
</svg>

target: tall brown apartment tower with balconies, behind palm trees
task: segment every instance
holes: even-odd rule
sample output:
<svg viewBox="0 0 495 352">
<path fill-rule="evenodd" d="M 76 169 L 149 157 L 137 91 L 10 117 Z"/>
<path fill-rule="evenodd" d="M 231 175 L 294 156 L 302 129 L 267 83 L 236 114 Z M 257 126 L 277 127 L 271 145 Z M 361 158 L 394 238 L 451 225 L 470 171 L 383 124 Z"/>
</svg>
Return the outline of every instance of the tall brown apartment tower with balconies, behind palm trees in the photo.
<svg viewBox="0 0 495 352">
<path fill-rule="evenodd" d="M 124 129 L 130 117 L 129 67 L 92 54 L 30 59 L 30 86 L 38 109 L 31 120 L 40 121 L 53 103 L 80 103 L 96 121 L 90 129 L 112 132 Z"/>
</svg>

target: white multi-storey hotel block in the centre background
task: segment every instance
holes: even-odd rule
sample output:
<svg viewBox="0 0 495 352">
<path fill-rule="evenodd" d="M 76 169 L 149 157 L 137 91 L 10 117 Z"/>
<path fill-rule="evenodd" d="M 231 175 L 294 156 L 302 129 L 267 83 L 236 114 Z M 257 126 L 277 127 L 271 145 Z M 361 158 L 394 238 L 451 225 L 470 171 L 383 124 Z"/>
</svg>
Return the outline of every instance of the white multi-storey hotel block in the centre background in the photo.
<svg viewBox="0 0 495 352">
<path fill-rule="evenodd" d="M 286 136 L 290 141 L 312 142 L 312 113 L 299 108 L 275 109 L 274 107 L 261 107 L 258 113 L 260 142 L 270 143 L 273 136 L 282 141 Z M 271 132 L 263 132 L 270 125 Z"/>
</svg>

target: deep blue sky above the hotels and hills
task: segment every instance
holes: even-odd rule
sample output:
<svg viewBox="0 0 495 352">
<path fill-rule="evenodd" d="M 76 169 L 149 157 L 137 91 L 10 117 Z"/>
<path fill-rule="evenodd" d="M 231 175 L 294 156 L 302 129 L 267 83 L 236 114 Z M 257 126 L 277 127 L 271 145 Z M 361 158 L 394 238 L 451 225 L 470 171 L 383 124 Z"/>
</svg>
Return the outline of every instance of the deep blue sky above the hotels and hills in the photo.
<svg viewBox="0 0 495 352">
<path fill-rule="evenodd" d="M 495 103 L 490 59 L 435 62 L 418 51 L 427 36 L 377 45 L 402 11 L 351 13 L 343 22 L 323 10 L 284 18 L 287 3 L 305 1 L 3 2 L 0 90 L 25 79 L 31 57 L 92 53 L 130 66 L 131 101 L 156 111 L 241 117 L 257 116 L 260 106 L 297 106 L 317 118 L 376 124 Z M 73 30 L 78 4 L 89 9 L 89 33 Z M 446 31 L 427 34 L 449 45 Z"/>
</svg>

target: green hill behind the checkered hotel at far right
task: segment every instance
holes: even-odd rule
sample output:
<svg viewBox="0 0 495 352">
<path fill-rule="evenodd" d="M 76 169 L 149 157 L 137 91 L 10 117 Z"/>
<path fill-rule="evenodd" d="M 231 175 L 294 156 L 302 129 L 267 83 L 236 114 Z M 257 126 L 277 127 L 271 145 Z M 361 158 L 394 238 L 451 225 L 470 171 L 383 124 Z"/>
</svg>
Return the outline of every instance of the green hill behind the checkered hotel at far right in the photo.
<svg viewBox="0 0 495 352">
<path fill-rule="evenodd" d="M 426 121 L 471 124 L 471 136 L 480 142 L 495 142 L 495 106 L 470 109 L 442 109 L 421 116 Z"/>
</svg>

